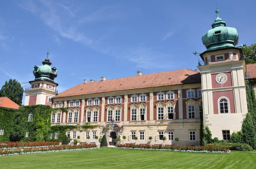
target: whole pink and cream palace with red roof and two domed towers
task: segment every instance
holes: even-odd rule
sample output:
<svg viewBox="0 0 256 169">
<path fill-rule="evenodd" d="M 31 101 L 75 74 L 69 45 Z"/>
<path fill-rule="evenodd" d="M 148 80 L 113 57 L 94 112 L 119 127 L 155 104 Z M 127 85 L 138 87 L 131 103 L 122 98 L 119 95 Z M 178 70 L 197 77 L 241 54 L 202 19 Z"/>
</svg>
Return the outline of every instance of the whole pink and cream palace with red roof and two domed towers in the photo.
<svg viewBox="0 0 256 169">
<path fill-rule="evenodd" d="M 109 144 L 119 137 L 122 143 L 176 144 L 175 138 L 179 138 L 180 145 L 199 145 L 201 113 L 212 137 L 230 139 L 233 132 L 241 130 L 247 113 L 244 74 L 248 70 L 241 59 L 242 49 L 236 47 L 236 28 L 227 27 L 218 12 L 212 29 L 202 36 L 207 50 L 200 54 L 200 71 L 145 75 L 138 71 L 137 76 L 109 80 L 102 76 L 100 81 L 84 80 L 57 94 L 57 71 L 50 67 L 47 55 L 42 66 L 34 67 L 35 80 L 25 91 L 25 105 L 67 107 L 67 113 L 60 109 L 52 112 L 52 125 L 99 126 L 67 132 L 71 138 L 79 135 L 81 141 L 96 142 L 96 135 L 106 135 Z M 249 68 L 252 78 L 256 78 L 254 67 Z M 167 138 L 164 142 L 163 137 Z"/>
</svg>

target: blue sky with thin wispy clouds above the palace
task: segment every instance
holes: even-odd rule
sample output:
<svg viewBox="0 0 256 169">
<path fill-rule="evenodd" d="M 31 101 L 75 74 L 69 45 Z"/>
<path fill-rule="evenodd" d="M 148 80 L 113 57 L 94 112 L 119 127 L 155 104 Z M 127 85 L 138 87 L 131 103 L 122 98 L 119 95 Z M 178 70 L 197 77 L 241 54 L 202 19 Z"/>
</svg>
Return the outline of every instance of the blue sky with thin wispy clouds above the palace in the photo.
<svg viewBox="0 0 256 169">
<path fill-rule="evenodd" d="M 239 45 L 256 43 L 256 2 L 217 3 Z M 196 69 L 192 52 L 205 51 L 201 36 L 216 18 L 215 1 L 206 0 L 9 0 L 0 9 L 0 87 L 9 79 L 34 80 L 33 67 L 49 47 L 58 91 L 137 70 Z"/>
</svg>

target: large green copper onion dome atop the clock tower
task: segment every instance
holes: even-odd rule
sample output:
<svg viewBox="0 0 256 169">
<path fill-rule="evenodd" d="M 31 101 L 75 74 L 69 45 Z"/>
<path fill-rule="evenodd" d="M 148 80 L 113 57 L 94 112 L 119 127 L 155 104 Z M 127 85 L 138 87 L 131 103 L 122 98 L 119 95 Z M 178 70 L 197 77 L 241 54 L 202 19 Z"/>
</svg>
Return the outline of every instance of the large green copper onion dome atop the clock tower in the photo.
<svg viewBox="0 0 256 169">
<path fill-rule="evenodd" d="M 217 13 L 217 18 L 212 24 L 212 29 L 202 36 L 202 41 L 207 51 L 236 47 L 238 44 L 238 33 L 236 28 L 226 27 L 226 23 L 219 18 L 219 10 L 215 11 Z"/>
</svg>

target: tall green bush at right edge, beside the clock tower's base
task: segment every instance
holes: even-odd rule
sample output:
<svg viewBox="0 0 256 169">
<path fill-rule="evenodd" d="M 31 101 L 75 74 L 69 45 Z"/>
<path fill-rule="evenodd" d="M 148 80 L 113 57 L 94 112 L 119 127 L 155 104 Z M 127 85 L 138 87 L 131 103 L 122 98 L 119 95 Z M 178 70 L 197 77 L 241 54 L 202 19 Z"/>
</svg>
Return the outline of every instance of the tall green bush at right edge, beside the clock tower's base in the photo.
<svg viewBox="0 0 256 169">
<path fill-rule="evenodd" d="M 242 134 L 244 143 L 249 144 L 253 149 L 256 149 L 256 131 L 253 125 L 251 113 L 247 113 L 244 119 L 242 124 Z"/>
</svg>

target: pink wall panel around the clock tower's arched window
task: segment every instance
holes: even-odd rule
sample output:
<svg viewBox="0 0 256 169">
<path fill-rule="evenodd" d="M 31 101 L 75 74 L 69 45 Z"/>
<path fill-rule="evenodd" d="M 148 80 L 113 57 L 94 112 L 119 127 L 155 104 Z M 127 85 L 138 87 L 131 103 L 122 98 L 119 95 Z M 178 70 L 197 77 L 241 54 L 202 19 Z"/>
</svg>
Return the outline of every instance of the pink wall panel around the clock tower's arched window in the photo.
<svg viewBox="0 0 256 169">
<path fill-rule="evenodd" d="M 236 113 L 235 112 L 235 103 L 234 103 L 233 90 L 212 92 L 213 113 L 214 114 L 219 114 L 219 110 L 218 110 L 219 104 L 218 104 L 218 101 L 222 97 L 227 98 L 229 100 L 230 113 Z"/>
</svg>

